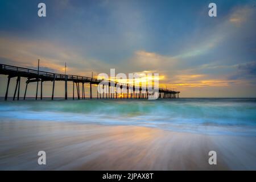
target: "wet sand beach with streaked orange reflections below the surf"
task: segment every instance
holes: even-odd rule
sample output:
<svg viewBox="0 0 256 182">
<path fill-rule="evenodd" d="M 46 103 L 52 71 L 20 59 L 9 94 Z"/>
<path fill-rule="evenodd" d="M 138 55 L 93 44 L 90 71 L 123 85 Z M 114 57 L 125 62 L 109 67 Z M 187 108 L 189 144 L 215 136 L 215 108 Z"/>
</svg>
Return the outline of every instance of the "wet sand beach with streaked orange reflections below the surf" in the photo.
<svg viewBox="0 0 256 182">
<path fill-rule="evenodd" d="M 138 126 L 0 121 L 1 170 L 256 169 L 255 137 L 177 133 Z M 38 165 L 38 151 L 47 165 Z M 217 152 L 209 165 L 208 152 Z"/>
</svg>

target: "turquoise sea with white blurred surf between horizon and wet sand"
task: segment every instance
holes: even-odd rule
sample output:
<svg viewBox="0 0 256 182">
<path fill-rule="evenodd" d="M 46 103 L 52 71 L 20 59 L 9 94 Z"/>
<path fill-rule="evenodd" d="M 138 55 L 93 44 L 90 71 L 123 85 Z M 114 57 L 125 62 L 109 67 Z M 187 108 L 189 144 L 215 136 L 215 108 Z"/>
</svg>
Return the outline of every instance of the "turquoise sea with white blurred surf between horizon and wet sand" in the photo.
<svg viewBox="0 0 256 182">
<path fill-rule="evenodd" d="M 135 125 L 214 135 L 256 136 L 255 98 L 0 101 L 6 119 Z"/>
</svg>

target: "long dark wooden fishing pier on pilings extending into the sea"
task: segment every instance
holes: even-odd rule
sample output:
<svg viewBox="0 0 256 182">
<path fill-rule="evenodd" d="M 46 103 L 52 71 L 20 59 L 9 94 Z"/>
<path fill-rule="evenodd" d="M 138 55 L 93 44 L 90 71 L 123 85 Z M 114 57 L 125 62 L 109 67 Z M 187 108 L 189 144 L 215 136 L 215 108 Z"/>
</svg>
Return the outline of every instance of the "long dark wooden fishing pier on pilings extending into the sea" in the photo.
<svg viewBox="0 0 256 182">
<path fill-rule="evenodd" d="M 8 75 L 7 86 L 6 86 L 6 94 L 5 100 L 8 98 L 8 91 L 11 78 L 16 77 L 16 85 L 13 100 L 17 98 L 20 99 L 20 77 L 27 78 L 26 81 L 26 88 L 24 91 L 23 100 L 26 99 L 26 93 L 28 84 L 31 82 L 36 82 L 36 93 L 35 99 L 38 100 L 38 89 L 39 89 L 39 82 L 40 82 L 40 100 L 43 99 L 43 82 L 44 81 L 52 81 L 52 100 L 54 98 L 54 91 L 55 91 L 55 82 L 56 81 L 64 81 L 65 82 L 65 100 L 68 99 L 68 82 L 73 82 L 73 99 L 75 99 L 75 85 L 76 85 L 76 92 L 77 98 L 80 100 L 80 84 L 82 84 L 82 99 L 85 99 L 85 87 L 86 83 L 90 84 L 90 96 L 89 98 L 92 99 L 92 85 L 99 85 L 104 82 L 102 85 L 105 90 L 108 90 L 107 93 L 98 93 L 97 91 L 97 99 L 104 99 L 105 98 L 148 98 L 156 90 L 154 88 L 148 89 L 147 87 L 137 86 L 137 85 L 130 85 L 130 84 L 122 84 L 120 82 L 111 81 L 111 80 L 102 80 L 93 77 L 85 77 L 85 76 L 76 76 L 76 75 L 66 75 L 66 74 L 58 74 L 58 73 L 51 73 L 45 71 L 39 71 L 39 64 L 38 70 L 29 69 L 29 68 L 22 68 L 22 67 L 15 67 L 12 65 L 0 64 L 0 75 Z M 123 93 L 117 93 L 117 87 L 125 90 Z M 112 92 L 110 91 L 112 90 Z M 159 88 L 158 89 L 159 98 L 179 98 L 179 93 L 174 90 L 168 90 Z M 17 96 L 16 96 L 17 94 Z M 119 94 L 119 97 L 118 97 Z"/>
</svg>

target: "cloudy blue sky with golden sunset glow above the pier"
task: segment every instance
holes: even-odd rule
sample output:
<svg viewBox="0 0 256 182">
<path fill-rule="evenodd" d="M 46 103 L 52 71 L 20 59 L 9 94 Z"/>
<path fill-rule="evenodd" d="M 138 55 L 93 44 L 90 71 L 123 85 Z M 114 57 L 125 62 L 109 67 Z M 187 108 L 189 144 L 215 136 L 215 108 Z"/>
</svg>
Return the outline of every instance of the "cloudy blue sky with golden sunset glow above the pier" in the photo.
<svg viewBox="0 0 256 182">
<path fill-rule="evenodd" d="M 38 16 L 40 2 L 46 17 Z M 208 15 L 211 2 L 217 17 Z M 64 73 L 67 62 L 67 73 L 81 76 L 111 68 L 159 73 L 159 85 L 180 97 L 256 97 L 255 30 L 252 0 L 2 0 L 0 63 L 36 69 L 40 59 L 40 70 Z M 0 96 L 6 84 L 0 76 Z M 44 85 L 44 96 L 51 96 L 52 83 Z M 56 89 L 63 97 L 64 83 Z"/>
</svg>

